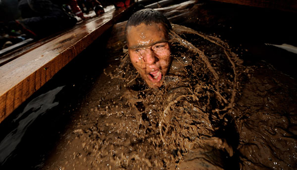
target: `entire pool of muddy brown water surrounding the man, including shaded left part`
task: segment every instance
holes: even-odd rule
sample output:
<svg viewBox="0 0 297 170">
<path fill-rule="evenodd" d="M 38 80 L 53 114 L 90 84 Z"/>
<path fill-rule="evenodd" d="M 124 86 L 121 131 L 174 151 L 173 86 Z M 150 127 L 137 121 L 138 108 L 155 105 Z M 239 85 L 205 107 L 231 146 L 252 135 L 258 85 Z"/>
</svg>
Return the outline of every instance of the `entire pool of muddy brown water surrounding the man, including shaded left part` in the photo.
<svg viewBox="0 0 297 170">
<path fill-rule="evenodd" d="M 148 88 L 129 56 L 117 52 L 123 40 L 100 55 L 109 58 L 107 67 L 90 59 L 99 54 L 84 53 L 72 71 L 49 82 L 55 88 L 0 125 L 11 136 L 0 143 L 2 168 L 296 169 L 296 80 L 266 62 L 246 64 L 241 49 L 209 34 L 175 25 L 170 36 L 174 59 L 159 90 Z M 10 126 L 17 128 L 6 132 Z M 35 129 L 19 133 L 26 128 Z M 2 158 L 4 152 L 10 157 Z"/>
</svg>

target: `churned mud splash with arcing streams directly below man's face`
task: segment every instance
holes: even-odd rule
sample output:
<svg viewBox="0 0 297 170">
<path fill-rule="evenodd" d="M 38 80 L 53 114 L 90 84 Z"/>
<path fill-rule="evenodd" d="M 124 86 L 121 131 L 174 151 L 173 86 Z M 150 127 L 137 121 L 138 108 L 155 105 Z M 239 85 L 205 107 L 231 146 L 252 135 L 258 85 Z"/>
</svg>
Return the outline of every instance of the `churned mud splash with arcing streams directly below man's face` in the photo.
<svg viewBox="0 0 297 170">
<path fill-rule="evenodd" d="M 225 67 L 233 69 L 220 74 L 220 67 L 216 66 L 222 63 L 215 63 L 216 57 L 207 58 L 198 47 L 181 38 L 186 34 L 196 35 L 201 44 L 222 51 L 221 60 L 227 64 Z M 174 25 L 170 37 L 174 59 L 160 90 L 146 88 L 139 76 L 132 77 L 136 73 L 127 72 L 127 68 L 134 71 L 127 55 L 120 68 L 110 74 L 112 79 L 127 82 L 125 86 L 131 89 L 122 99 L 134 108 L 132 113 L 136 113 L 137 124 L 133 131 L 139 131 L 141 127 L 145 130 L 146 135 L 137 136 L 141 141 L 138 145 L 154 146 L 145 149 L 145 153 L 152 153 L 154 159 L 153 155 L 146 155 L 146 164 L 140 165 L 137 161 L 135 166 L 142 169 L 224 168 L 225 161 L 219 155 L 231 157 L 233 148 L 224 138 L 214 134 L 227 123 L 224 115 L 232 108 L 238 84 L 235 65 L 242 61 L 222 41 L 189 28 Z"/>
</svg>

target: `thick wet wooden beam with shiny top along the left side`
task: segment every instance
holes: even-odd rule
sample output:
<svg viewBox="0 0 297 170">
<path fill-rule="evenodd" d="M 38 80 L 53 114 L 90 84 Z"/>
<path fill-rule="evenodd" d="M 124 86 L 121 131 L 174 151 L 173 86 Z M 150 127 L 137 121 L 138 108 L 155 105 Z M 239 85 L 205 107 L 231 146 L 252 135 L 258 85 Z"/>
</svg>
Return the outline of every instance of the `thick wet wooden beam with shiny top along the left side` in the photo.
<svg viewBox="0 0 297 170">
<path fill-rule="evenodd" d="M 94 42 L 129 8 L 99 18 L 52 39 L 0 67 L 0 122 Z M 98 51 L 99 52 L 99 51 Z"/>
</svg>

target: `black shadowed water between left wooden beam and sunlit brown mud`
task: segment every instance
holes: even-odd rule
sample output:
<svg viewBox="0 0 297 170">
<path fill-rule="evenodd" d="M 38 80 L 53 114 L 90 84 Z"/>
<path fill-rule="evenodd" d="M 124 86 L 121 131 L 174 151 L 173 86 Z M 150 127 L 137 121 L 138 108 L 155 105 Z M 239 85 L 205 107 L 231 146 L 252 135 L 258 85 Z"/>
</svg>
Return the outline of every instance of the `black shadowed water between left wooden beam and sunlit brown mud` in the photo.
<svg viewBox="0 0 297 170">
<path fill-rule="evenodd" d="M 106 65 L 107 31 L 0 124 L 0 169 L 39 169 Z M 17 164 L 16 164 L 17 163 Z"/>
</svg>

